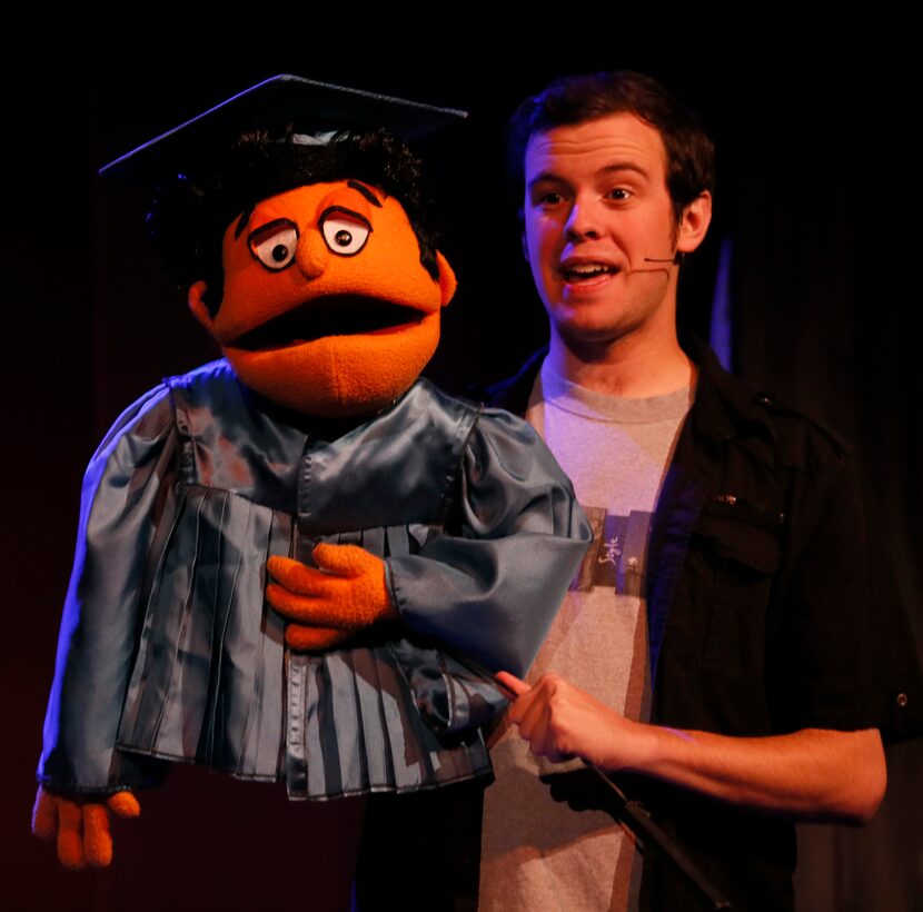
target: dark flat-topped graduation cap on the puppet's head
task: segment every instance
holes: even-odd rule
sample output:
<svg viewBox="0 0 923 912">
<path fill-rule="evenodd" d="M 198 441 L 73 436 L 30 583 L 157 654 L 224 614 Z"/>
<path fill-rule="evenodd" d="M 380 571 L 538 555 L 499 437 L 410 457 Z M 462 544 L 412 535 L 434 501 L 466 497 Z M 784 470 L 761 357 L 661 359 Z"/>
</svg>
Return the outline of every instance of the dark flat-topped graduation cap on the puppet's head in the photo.
<svg viewBox="0 0 923 912">
<path fill-rule="evenodd" d="M 406 142 L 413 142 L 467 116 L 466 111 L 454 108 L 437 108 L 284 73 L 180 123 L 110 161 L 99 172 L 156 184 L 161 178 L 196 170 L 197 166 L 207 167 L 240 133 L 256 127 L 278 127 L 281 131 L 294 123 L 296 133 L 306 142 L 337 130 L 384 127 Z"/>
</svg>

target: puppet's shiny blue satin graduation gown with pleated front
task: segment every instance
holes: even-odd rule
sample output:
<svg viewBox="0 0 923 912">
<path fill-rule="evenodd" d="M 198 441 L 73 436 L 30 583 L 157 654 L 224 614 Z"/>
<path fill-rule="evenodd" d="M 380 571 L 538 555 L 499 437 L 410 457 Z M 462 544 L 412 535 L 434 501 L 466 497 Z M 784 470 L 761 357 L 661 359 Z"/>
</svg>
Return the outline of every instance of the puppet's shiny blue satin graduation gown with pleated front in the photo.
<svg viewBox="0 0 923 912">
<path fill-rule="evenodd" d="M 320 541 L 385 558 L 401 623 L 292 654 L 266 558 Z M 224 361 L 171 378 L 87 470 L 39 779 L 106 792 L 195 761 L 326 799 L 489 774 L 505 701 L 480 666 L 525 671 L 588 541 L 525 423 L 424 380 L 337 424 Z"/>
</svg>

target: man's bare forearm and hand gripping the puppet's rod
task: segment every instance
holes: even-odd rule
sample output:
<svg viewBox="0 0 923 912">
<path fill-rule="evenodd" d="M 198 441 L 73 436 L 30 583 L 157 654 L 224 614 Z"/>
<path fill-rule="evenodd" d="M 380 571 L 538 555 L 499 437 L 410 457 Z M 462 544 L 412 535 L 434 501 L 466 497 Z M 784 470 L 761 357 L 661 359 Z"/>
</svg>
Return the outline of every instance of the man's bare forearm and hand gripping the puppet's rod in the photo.
<svg viewBox="0 0 923 912">
<path fill-rule="evenodd" d="M 507 672 L 509 720 L 529 750 L 558 762 L 578 756 L 607 772 L 634 772 L 728 804 L 796 820 L 865 823 L 887 783 L 875 728 L 802 728 L 735 737 L 632 722 L 554 674 L 529 687 Z"/>
</svg>

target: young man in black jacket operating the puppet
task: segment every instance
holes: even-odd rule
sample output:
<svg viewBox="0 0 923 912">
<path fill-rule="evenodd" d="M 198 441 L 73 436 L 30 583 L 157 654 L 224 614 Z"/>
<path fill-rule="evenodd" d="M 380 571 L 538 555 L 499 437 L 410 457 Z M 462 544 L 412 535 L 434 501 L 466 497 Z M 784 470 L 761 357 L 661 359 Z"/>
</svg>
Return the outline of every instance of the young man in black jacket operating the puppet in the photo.
<svg viewBox="0 0 923 912">
<path fill-rule="evenodd" d="M 701 908 L 649 851 L 641 876 L 585 763 L 629 774 L 736 908 L 792 908 L 793 821 L 871 817 L 880 730 L 920 725 L 850 449 L 681 344 L 714 153 L 663 87 L 564 78 L 512 126 L 550 345 L 497 404 L 543 434 L 596 542 L 529 683 L 505 676 L 482 909 Z"/>
</svg>

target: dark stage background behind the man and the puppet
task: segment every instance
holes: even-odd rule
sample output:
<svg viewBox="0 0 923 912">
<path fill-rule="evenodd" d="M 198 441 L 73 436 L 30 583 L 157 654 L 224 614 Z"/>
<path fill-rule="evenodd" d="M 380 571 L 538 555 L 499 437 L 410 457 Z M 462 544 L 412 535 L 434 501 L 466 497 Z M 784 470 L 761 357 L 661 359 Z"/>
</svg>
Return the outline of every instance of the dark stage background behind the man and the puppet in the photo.
<svg viewBox="0 0 923 912">
<path fill-rule="evenodd" d="M 684 318 L 707 335 L 728 240 L 735 369 L 856 443 L 919 648 L 913 49 L 883 14 L 810 33 L 782 9 L 744 23 L 570 6 L 548 17 L 523 4 L 512 28 L 474 6 L 261 4 L 245 21 L 158 4 L 128 22 L 97 3 L 73 21 L 40 21 L 37 7 L 28 28 L 7 30 L 3 908 L 271 909 L 322 876 L 299 845 L 298 806 L 195 769 L 142 796 L 145 816 L 118 827 L 107 872 L 63 872 L 28 835 L 83 466 L 125 406 L 214 354 L 147 247 L 143 199 L 96 170 L 278 72 L 470 111 L 425 149 L 459 277 L 428 373 L 451 389 L 503 377 L 545 336 L 503 180 L 515 105 L 562 72 L 631 68 L 696 108 L 718 143 L 719 182 L 711 237 L 684 269 Z M 890 750 L 889 795 L 864 830 L 802 827 L 802 909 L 923 909 L 921 760 L 919 743 Z"/>
</svg>

